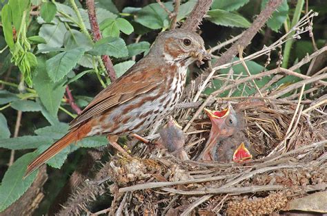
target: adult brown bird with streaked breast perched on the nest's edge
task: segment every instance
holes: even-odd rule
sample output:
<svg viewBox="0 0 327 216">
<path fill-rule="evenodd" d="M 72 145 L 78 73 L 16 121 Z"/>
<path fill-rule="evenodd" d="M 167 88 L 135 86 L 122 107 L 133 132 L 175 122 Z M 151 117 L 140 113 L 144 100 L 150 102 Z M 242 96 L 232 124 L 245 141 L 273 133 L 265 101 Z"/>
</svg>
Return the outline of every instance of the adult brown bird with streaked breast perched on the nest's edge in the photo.
<svg viewBox="0 0 327 216">
<path fill-rule="evenodd" d="M 161 32 L 150 51 L 120 78 L 103 89 L 70 122 L 70 131 L 28 165 L 26 175 L 70 143 L 107 135 L 117 149 L 117 136 L 149 129 L 167 116 L 181 98 L 188 65 L 209 59 L 204 40 L 195 32 Z"/>
</svg>

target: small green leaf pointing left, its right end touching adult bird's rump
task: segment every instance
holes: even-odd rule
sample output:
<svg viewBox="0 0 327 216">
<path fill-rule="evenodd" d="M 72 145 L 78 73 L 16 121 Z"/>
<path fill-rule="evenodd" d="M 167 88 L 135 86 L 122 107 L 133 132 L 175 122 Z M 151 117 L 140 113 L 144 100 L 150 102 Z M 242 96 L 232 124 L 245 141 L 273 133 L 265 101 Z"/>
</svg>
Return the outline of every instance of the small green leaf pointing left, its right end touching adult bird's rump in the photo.
<svg viewBox="0 0 327 216">
<path fill-rule="evenodd" d="M 34 131 L 39 136 L 46 136 L 55 140 L 62 138 L 69 129 L 69 125 L 63 122 L 59 122 L 56 125 L 42 127 Z"/>
</svg>

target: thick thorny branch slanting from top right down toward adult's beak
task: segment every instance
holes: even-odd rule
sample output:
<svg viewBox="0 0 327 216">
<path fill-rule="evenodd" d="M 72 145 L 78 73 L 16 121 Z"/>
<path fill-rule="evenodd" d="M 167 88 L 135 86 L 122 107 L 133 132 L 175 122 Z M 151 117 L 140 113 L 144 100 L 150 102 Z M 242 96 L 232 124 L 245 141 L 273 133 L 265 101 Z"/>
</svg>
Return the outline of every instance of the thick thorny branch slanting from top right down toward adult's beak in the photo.
<svg viewBox="0 0 327 216">
<path fill-rule="evenodd" d="M 202 2 L 202 1 L 198 1 Z M 268 21 L 269 17 L 273 14 L 273 12 L 275 12 L 275 10 L 278 8 L 278 6 L 281 4 L 282 0 L 270 0 L 268 2 L 268 4 L 266 5 L 266 8 L 264 10 L 262 10 L 260 12 L 260 14 L 257 16 L 257 18 L 255 19 L 255 21 L 253 21 L 252 25 L 250 26 L 250 28 L 248 28 L 243 36 L 241 36 L 241 38 L 239 40 L 237 40 L 236 43 L 234 43 L 226 52 L 224 52 L 224 54 L 221 55 L 221 57 L 217 60 L 217 62 L 215 63 L 214 66 L 217 65 L 224 65 L 226 63 L 229 63 L 232 58 L 237 54 L 237 46 L 241 45 L 242 47 L 247 47 L 251 40 L 253 39 L 253 37 L 255 36 L 255 34 L 257 34 L 257 32 L 264 26 L 264 24 L 266 23 L 266 21 Z M 186 20 L 187 22 L 188 20 Z M 182 26 L 182 28 L 186 28 L 188 23 L 184 23 L 184 25 Z M 215 68 L 214 68 L 215 69 Z M 205 72 L 203 74 L 203 76 L 208 76 L 208 74 L 210 74 L 210 72 Z M 212 73 L 213 75 L 213 73 Z M 195 86 L 199 86 L 199 84 L 201 83 L 201 76 L 197 77 L 195 79 Z M 206 85 L 204 85 L 206 86 Z M 190 86 L 188 85 L 186 87 L 186 89 L 184 90 L 184 96 L 182 99 L 184 99 L 186 97 L 187 92 L 190 91 Z"/>
</svg>

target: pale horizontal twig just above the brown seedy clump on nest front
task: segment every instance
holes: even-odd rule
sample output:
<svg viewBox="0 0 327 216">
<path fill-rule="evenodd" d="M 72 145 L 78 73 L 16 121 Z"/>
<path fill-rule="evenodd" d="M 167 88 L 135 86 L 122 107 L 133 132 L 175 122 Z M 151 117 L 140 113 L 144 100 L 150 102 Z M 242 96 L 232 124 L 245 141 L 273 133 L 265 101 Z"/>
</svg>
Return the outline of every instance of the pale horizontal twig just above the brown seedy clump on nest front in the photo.
<svg viewBox="0 0 327 216">
<path fill-rule="evenodd" d="M 182 195 L 207 195 L 207 194 L 219 194 L 219 193 L 255 193 L 259 191 L 277 191 L 285 188 L 282 185 L 264 185 L 264 186 L 248 186 L 243 188 L 204 188 L 199 191 L 181 191 L 173 188 L 161 188 L 162 191 L 169 193 L 182 194 Z M 207 195 L 208 197 L 211 195 Z M 207 198 L 207 197 L 205 197 Z M 199 200 L 201 201 L 201 200 Z"/>
</svg>

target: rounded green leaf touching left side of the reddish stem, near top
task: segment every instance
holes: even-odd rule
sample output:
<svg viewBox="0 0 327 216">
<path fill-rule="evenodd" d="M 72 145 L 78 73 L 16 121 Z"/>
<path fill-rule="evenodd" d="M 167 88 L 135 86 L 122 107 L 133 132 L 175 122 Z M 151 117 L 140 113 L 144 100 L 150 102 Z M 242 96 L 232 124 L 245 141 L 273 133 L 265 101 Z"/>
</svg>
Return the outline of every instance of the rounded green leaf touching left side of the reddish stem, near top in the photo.
<svg viewBox="0 0 327 216">
<path fill-rule="evenodd" d="M 85 50 L 90 50 L 93 46 L 92 41 L 90 41 L 85 34 L 77 30 L 70 30 L 69 32 L 66 32 L 63 41 L 63 45 L 68 50 L 76 47 L 83 47 Z"/>
</svg>

